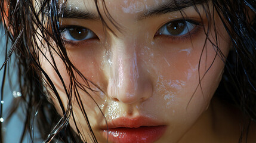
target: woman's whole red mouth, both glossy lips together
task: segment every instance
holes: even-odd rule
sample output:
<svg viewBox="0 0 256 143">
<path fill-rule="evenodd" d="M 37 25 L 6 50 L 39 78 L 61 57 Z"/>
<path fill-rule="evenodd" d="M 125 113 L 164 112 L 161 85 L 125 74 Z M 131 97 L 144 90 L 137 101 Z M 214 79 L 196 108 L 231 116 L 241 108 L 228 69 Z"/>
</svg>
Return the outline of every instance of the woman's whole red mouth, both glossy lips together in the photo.
<svg viewBox="0 0 256 143">
<path fill-rule="evenodd" d="M 103 135 L 109 141 L 115 143 L 151 143 L 164 134 L 166 126 L 159 125 L 147 117 L 136 119 L 119 118 L 108 123 L 109 132 L 103 129 Z"/>
</svg>

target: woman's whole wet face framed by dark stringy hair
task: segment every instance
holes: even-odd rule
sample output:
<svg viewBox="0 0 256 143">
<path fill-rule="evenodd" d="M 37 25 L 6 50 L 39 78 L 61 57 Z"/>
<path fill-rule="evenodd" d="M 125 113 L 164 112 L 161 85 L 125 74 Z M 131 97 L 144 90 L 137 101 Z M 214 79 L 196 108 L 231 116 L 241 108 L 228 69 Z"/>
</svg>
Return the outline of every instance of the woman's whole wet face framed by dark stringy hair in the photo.
<svg viewBox="0 0 256 143">
<path fill-rule="evenodd" d="M 177 142 L 208 108 L 223 73 L 219 55 L 228 54 L 228 36 L 220 19 L 212 17 L 212 9 L 206 13 L 197 5 L 199 15 L 193 2 L 177 2 L 183 10 L 178 11 L 173 0 L 106 0 L 110 14 L 106 15 L 99 1 L 99 11 L 112 32 L 104 31 L 92 0 L 67 0 L 61 9 L 67 54 L 94 90 L 87 89 L 90 97 L 79 89 L 82 103 L 72 100 L 76 125 L 88 142 L 92 142 L 90 130 L 81 105 L 98 142 L 106 142 L 108 134 L 109 142 L 124 143 Z M 50 61 L 41 57 L 42 67 L 67 107 L 50 52 L 44 54 Z M 56 53 L 54 58 L 68 88 L 66 67 Z M 76 78 L 87 85 L 79 74 Z M 60 110 L 54 97 L 53 101 Z M 76 130 L 75 122 L 71 117 Z"/>
</svg>

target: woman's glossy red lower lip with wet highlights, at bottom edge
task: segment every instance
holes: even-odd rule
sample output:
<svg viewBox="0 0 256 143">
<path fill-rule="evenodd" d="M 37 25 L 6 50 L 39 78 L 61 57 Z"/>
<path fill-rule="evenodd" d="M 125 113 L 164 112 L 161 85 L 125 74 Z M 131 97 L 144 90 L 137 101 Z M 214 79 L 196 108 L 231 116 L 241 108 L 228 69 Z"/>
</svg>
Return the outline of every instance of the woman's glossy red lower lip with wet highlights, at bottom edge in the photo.
<svg viewBox="0 0 256 143">
<path fill-rule="evenodd" d="M 139 128 L 112 128 L 103 130 L 105 138 L 115 143 L 152 143 L 164 134 L 166 126 L 141 126 Z"/>
</svg>

